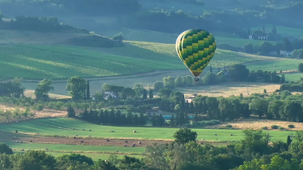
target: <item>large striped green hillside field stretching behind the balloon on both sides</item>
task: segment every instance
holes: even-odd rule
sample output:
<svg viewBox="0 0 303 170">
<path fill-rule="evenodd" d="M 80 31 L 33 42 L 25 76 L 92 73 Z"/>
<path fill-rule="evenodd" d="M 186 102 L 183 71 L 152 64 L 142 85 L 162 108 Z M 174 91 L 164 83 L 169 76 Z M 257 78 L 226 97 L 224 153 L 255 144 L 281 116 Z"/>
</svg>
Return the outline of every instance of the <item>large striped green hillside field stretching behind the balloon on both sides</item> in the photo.
<svg viewBox="0 0 303 170">
<path fill-rule="evenodd" d="M 153 70 L 185 69 L 174 44 L 127 41 L 119 48 L 86 48 L 69 45 L 9 44 L 0 46 L 2 79 L 59 79 L 74 75 L 100 77 Z M 275 60 L 226 50 L 217 50 L 214 67 L 257 60 Z M 7 72 L 7 70 L 10 70 Z M 207 69 L 206 69 L 207 70 Z"/>
</svg>

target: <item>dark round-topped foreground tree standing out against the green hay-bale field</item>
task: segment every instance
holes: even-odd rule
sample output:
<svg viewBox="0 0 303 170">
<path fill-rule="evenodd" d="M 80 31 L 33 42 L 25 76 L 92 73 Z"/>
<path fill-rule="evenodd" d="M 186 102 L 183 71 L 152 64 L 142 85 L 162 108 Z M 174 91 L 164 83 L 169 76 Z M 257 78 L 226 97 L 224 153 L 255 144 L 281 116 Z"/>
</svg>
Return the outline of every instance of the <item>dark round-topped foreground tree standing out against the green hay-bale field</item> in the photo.
<svg viewBox="0 0 303 170">
<path fill-rule="evenodd" d="M 173 137 L 175 138 L 175 142 L 179 144 L 185 144 L 190 141 L 196 141 L 197 139 L 197 132 L 191 131 L 191 129 L 183 128 L 179 129 L 175 132 Z"/>
</svg>

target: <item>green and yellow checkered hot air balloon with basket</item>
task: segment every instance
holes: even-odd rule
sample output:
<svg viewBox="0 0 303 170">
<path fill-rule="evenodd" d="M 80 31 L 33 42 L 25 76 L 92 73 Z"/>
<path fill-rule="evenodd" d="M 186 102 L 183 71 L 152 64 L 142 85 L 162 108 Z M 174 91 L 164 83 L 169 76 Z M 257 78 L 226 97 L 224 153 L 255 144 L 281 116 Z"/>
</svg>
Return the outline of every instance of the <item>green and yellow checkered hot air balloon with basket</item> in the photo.
<svg viewBox="0 0 303 170">
<path fill-rule="evenodd" d="M 208 31 L 191 29 L 179 35 L 176 41 L 179 58 L 199 81 L 198 76 L 216 51 L 216 40 Z"/>
</svg>

